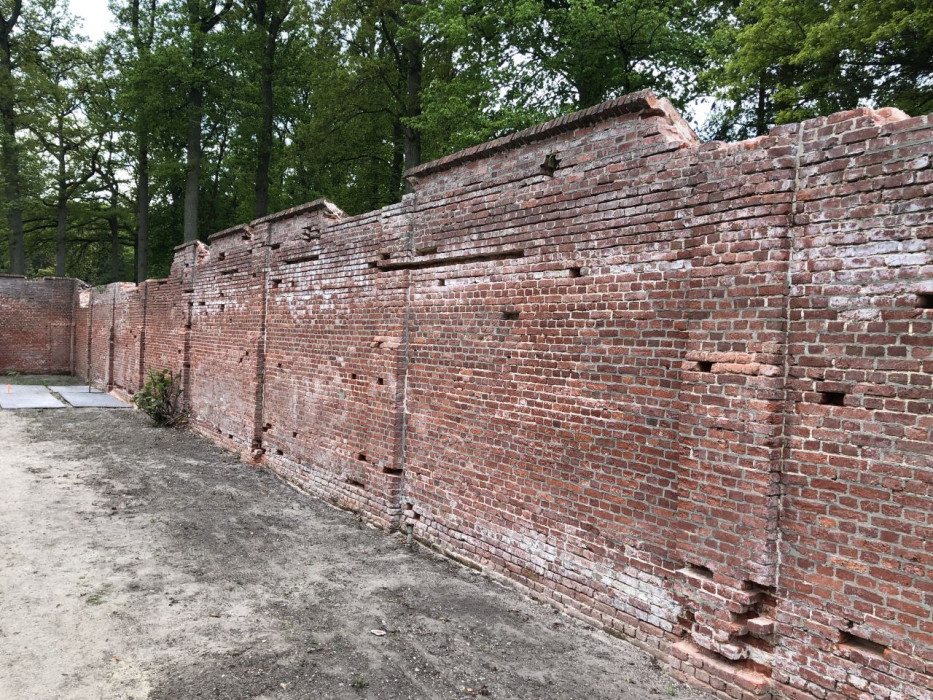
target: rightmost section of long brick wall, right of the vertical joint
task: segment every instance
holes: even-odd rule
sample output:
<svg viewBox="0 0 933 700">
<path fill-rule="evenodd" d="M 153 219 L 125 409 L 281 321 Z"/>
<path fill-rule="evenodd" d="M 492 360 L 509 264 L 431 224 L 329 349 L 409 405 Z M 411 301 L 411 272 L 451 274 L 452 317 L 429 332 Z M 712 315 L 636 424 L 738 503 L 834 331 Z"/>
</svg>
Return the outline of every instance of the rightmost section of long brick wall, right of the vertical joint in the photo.
<svg viewBox="0 0 933 700">
<path fill-rule="evenodd" d="M 930 698 L 933 128 L 859 110 L 800 138 L 775 675 Z"/>
</svg>

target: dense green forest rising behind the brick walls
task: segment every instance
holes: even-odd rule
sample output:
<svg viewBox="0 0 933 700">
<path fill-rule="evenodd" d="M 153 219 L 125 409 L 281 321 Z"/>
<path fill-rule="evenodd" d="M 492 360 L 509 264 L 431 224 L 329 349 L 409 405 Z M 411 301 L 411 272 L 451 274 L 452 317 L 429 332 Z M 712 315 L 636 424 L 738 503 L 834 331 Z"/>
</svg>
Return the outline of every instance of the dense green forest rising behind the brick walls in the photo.
<svg viewBox="0 0 933 700">
<path fill-rule="evenodd" d="M 703 138 L 933 112 L 929 0 L 0 0 L 0 270 L 164 276 L 174 246 L 651 88 Z"/>
</svg>

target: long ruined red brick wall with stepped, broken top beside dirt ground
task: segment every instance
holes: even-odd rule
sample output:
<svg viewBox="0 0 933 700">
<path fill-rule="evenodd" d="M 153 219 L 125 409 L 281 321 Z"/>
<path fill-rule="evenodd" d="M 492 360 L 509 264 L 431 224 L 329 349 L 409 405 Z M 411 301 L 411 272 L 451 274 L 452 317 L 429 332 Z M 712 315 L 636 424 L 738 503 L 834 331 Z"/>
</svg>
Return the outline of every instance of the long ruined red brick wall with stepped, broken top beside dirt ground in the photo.
<svg viewBox="0 0 933 700">
<path fill-rule="evenodd" d="M 630 95 L 83 292 L 75 371 L 724 697 L 930 700 L 931 142 Z"/>
</svg>

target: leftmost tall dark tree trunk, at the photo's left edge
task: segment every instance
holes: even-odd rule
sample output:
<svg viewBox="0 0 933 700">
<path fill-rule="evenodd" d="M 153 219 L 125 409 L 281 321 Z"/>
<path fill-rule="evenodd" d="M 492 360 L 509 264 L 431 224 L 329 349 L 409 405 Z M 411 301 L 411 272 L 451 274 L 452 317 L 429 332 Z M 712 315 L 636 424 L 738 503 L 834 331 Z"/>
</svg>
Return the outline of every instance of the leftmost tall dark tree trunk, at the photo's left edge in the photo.
<svg viewBox="0 0 933 700">
<path fill-rule="evenodd" d="M 16 110 L 13 104 L 13 55 L 10 36 L 22 10 L 22 0 L 15 0 L 9 17 L 0 16 L 0 155 L 3 157 L 4 196 L 7 226 L 10 229 L 10 272 L 26 274 L 26 248 L 23 234 L 23 209 L 20 204 L 19 147 L 16 143 Z"/>
</svg>

